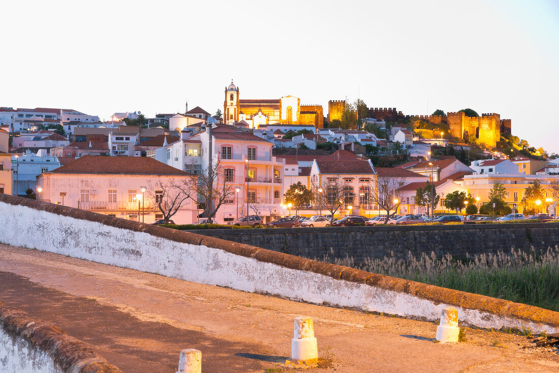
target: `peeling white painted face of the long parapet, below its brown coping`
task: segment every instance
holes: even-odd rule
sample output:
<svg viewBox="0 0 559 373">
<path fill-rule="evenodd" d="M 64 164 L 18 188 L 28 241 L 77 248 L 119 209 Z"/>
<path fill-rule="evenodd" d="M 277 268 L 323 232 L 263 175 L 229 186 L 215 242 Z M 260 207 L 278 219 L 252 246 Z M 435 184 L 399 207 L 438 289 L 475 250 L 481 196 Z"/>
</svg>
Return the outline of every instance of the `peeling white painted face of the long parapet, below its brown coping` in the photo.
<svg viewBox="0 0 559 373">
<path fill-rule="evenodd" d="M 0 241 L 10 245 L 25 245 L 186 281 L 409 318 L 438 320 L 442 309 L 449 306 L 404 292 L 259 262 L 205 245 L 179 243 L 25 206 L 0 202 L 0 211 L 3 212 L 0 226 L 4 227 L 0 231 Z M 534 332 L 559 332 L 559 328 L 549 325 L 454 307 L 458 309 L 461 322 L 481 328 L 517 327 Z"/>
</svg>

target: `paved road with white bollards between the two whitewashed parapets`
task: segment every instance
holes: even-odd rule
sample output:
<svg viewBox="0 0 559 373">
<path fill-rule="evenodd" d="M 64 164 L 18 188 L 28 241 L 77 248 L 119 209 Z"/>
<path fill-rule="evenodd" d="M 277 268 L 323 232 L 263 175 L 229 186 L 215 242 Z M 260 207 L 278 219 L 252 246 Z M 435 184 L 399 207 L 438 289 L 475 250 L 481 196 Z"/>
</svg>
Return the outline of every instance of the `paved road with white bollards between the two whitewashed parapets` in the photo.
<svg viewBox="0 0 559 373">
<path fill-rule="evenodd" d="M 525 338 L 200 285 L 0 244 L 0 301 L 58 325 L 126 372 L 175 372 L 183 348 L 205 372 L 262 372 L 290 355 L 293 319 L 314 318 L 337 372 L 557 372 L 559 355 Z M 493 347 L 498 341 L 500 347 Z M 526 348 L 523 348 L 526 347 Z"/>
</svg>

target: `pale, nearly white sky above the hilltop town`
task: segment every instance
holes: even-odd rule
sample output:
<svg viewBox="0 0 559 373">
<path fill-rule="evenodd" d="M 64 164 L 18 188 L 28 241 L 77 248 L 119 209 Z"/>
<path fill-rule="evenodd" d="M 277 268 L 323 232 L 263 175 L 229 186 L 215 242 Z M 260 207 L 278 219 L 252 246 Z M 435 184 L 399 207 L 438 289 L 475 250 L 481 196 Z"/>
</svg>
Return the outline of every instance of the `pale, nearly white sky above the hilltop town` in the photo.
<svg viewBox="0 0 559 373">
<path fill-rule="evenodd" d="M 499 113 L 559 153 L 559 1 L 26 1 L 2 6 L 0 106 L 101 119 L 292 95 Z"/>
</svg>

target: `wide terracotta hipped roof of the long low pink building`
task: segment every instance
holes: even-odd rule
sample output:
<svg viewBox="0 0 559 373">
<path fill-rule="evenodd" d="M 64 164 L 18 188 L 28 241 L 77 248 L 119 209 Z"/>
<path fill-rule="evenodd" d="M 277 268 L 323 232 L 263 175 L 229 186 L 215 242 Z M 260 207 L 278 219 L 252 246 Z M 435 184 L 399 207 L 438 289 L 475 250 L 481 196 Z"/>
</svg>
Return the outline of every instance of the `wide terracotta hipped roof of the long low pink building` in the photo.
<svg viewBox="0 0 559 373">
<path fill-rule="evenodd" d="M 150 157 L 83 156 L 45 174 L 184 175 L 184 171 Z"/>
</svg>

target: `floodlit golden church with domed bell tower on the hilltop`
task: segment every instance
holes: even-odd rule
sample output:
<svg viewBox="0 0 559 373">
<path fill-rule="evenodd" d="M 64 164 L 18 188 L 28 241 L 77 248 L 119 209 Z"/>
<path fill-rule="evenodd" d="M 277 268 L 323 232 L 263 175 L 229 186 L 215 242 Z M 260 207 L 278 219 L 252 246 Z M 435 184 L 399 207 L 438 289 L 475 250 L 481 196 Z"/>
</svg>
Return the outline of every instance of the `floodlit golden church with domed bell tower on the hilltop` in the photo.
<svg viewBox="0 0 559 373">
<path fill-rule="evenodd" d="M 225 87 L 223 121 L 227 124 L 246 122 L 249 128 L 263 124 L 307 124 L 324 127 L 321 105 L 301 105 L 301 99 L 285 96 L 280 99 L 240 99 L 239 87 L 233 82 Z"/>
</svg>

